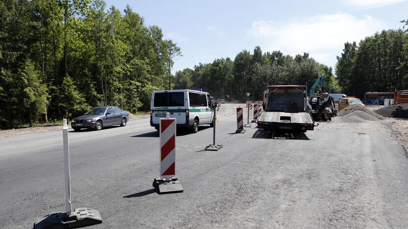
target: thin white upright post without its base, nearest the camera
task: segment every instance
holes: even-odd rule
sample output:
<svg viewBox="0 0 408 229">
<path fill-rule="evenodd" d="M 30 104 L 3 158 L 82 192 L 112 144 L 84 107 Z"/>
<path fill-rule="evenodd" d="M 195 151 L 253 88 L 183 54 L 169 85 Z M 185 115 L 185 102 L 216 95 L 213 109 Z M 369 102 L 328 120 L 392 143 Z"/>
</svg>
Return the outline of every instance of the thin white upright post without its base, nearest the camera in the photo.
<svg viewBox="0 0 408 229">
<path fill-rule="evenodd" d="M 64 149 L 64 172 L 65 172 L 65 210 L 71 215 L 71 176 L 70 176 L 70 150 L 68 145 L 67 119 L 62 119 L 62 140 Z"/>
</svg>

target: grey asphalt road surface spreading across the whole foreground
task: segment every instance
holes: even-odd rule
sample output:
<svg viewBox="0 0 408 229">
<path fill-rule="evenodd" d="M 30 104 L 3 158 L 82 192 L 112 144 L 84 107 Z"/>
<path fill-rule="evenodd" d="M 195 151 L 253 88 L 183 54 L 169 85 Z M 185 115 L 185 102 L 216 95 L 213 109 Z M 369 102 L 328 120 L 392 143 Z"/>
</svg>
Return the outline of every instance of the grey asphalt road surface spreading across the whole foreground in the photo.
<svg viewBox="0 0 408 229">
<path fill-rule="evenodd" d="M 218 152 L 203 151 L 209 126 L 178 132 L 184 192 L 167 195 L 152 187 L 159 138 L 148 119 L 70 132 L 73 206 L 100 211 L 91 228 L 408 227 L 406 153 L 381 122 L 321 123 L 296 139 L 235 128 L 220 118 Z M 61 131 L 0 138 L 0 228 L 63 211 L 63 168 Z"/>
</svg>

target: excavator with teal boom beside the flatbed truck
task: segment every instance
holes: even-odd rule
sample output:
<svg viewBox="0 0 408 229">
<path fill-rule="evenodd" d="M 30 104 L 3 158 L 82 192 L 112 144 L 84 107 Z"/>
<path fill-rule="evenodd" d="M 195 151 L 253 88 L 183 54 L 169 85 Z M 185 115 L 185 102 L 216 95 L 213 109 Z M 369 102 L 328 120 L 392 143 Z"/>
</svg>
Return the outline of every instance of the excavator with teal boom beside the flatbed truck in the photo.
<svg viewBox="0 0 408 229">
<path fill-rule="evenodd" d="M 309 96 L 307 97 L 308 112 L 313 118 L 313 121 L 327 121 L 332 120 L 332 117 L 336 116 L 334 99 L 329 96 L 329 93 L 314 93 L 314 90 L 318 85 L 321 85 L 322 91 L 324 90 L 324 75 L 322 74 L 316 82 L 310 88 Z"/>
</svg>

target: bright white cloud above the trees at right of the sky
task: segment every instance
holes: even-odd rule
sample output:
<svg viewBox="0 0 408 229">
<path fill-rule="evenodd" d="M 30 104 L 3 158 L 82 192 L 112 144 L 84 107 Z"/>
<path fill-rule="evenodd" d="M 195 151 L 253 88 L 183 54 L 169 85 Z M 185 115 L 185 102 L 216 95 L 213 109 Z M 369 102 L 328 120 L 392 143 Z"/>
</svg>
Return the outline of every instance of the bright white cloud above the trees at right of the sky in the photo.
<svg viewBox="0 0 408 229">
<path fill-rule="evenodd" d="M 284 54 L 308 52 L 317 61 L 333 66 L 344 43 L 359 41 L 384 28 L 370 16 L 356 18 L 345 13 L 295 18 L 287 23 L 255 21 L 249 31 L 264 51 Z"/>
</svg>

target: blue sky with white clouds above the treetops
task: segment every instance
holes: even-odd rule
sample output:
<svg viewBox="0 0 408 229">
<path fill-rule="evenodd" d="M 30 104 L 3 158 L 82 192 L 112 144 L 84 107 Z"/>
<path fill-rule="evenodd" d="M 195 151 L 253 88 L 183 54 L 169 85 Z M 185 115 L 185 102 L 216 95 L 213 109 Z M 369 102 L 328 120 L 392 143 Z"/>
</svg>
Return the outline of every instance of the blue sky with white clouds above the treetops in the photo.
<svg viewBox="0 0 408 229">
<path fill-rule="evenodd" d="M 308 52 L 334 68 L 345 42 L 376 31 L 402 28 L 408 0 L 106 0 L 123 10 L 127 4 L 157 25 L 183 54 L 173 72 L 230 57 L 259 45 L 263 52 Z"/>
</svg>

